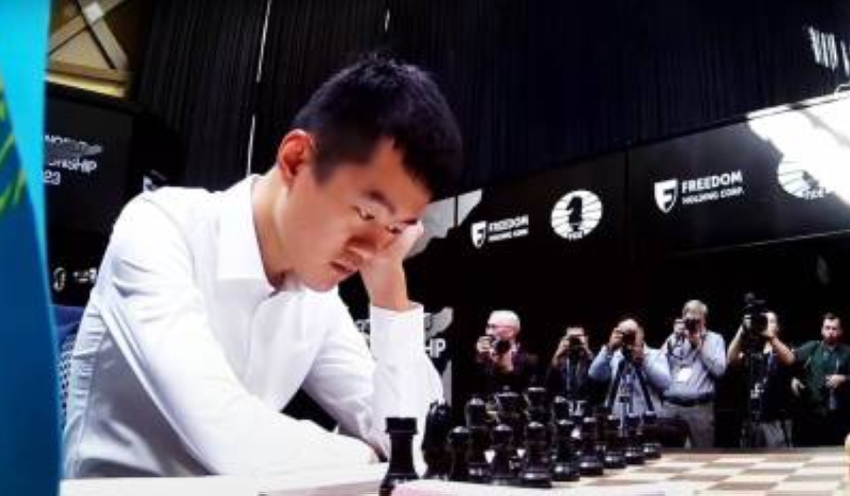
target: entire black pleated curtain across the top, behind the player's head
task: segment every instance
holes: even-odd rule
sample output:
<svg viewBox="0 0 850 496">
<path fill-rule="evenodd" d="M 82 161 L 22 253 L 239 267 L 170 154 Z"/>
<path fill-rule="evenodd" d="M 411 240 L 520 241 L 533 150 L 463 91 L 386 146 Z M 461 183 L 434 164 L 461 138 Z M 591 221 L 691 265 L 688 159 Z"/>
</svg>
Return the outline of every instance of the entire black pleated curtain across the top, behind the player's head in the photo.
<svg viewBox="0 0 850 496">
<path fill-rule="evenodd" d="M 816 63 L 808 31 L 850 42 L 847 0 L 273 0 L 257 85 L 265 7 L 156 4 L 137 99 L 183 141 L 175 182 L 238 180 L 252 115 L 252 168 L 268 168 L 312 88 L 366 50 L 420 64 L 444 88 L 466 141 L 459 191 L 848 79 L 844 61 Z"/>
</svg>

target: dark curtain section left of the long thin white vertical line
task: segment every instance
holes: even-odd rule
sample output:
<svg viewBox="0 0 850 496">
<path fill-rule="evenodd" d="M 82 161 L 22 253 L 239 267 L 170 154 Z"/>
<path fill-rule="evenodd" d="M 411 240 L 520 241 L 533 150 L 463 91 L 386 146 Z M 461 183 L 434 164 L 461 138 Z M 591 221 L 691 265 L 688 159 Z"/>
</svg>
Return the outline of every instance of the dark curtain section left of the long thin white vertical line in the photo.
<svg viewBox="0 0 850 496">
<path fill-rule="evenodd" d="M 172 183 L 225 188 L 246 174 L 265 0 L 160 0 L 137 100 L 179 145 Z"/>
</svg>

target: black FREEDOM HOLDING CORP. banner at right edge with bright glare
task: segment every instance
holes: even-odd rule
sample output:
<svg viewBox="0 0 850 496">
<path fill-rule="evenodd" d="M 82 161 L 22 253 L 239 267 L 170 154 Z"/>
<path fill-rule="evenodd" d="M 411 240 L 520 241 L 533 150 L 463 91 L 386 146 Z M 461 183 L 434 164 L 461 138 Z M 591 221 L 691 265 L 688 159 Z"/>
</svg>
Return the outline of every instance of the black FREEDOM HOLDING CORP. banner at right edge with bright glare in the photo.
<svg viewBox="0 0 850 496">
<path fill-rule="evenodd" d="M 629 152 L 638 257 L 850 230 L 850 100 Z"/>
</svg>

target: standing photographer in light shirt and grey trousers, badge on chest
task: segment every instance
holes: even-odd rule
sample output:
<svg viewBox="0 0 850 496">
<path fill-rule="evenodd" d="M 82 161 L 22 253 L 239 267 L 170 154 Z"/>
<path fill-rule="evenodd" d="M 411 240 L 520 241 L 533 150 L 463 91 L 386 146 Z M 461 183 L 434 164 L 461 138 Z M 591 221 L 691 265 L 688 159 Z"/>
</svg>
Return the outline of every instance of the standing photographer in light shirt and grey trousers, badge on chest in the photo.
<svg viewBox="0 0 850 496">
<path fill-rule="evenodd" d="M 686 303 L 664 345 L 672 382 L 662 414 L 688 425 L 692 448 L 714 444 L 715 382 L 726 371 L 726 344 L 723 336 L 706 329 L 706 316 L 708 308 L 700 300 Z"/>
</svg>

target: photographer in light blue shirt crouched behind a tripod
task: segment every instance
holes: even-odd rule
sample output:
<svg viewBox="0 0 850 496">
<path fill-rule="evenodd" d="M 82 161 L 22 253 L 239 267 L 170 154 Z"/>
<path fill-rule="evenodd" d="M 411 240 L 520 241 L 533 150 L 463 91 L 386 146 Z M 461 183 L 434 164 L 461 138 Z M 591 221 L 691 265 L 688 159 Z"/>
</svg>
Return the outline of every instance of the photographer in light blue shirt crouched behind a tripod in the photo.
<svg viewBox="0 0 850 496">
<path fill-rule="evenodd" d="M 611 332 L 608 344 L 602 347 L 590 366 L 591 379 L 601 383 L 609 382 L 614 379 L 612 376 L 623 360 L 634 366 L 629 373 L 642 374 L 655 409 L 660 408 L 660 392 L 670 385 L 670 367 L 664 353 L 645 344 L 643 327 L 633 318 L 623 319 Z M 621 389 L 626 385 L 632 388 L 632 412 L 643 413 L 648 410 L 638 379 L 622 378 Z"/>
</svg>

